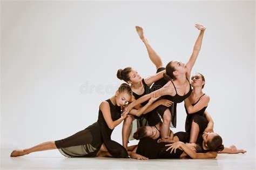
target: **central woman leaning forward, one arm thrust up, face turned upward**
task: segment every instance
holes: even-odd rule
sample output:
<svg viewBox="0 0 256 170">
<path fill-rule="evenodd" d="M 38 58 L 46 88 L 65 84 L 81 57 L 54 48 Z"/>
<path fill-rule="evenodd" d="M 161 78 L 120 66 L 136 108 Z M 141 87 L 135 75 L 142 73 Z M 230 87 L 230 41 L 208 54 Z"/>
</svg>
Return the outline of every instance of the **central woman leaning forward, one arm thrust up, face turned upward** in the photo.
<svg viewBox="0 0 256 170">
<path fill-rule="evenodd" d="M 160 89 L 152 92 L 156 93 L 156 97 L 165 96 L 166 99 L 169 99 L 174 102 L 174 110 L 171 114 L 165 114 L 162 110 L 159 114 L 163 118 L 163 125 L 161 126 L 161 137 L 167 137 L 170 130 L 170 123 L 172 120 L 173 126 L 176 127 L 176 105 L 177 103 L 181 103 L 188 96 L 190 96 L 192 88 L 190 85 L 190 73 L 196 59 L 198 57 L 199 51 L 201 49 L 201 44 L 203 41 L 205 27 L 203 25 L 196 24 L 196 28 L 200 30 L 199 36 L 197 38 L 196 44 L 194 45 L 194 49 L 192 55 L 186 64 L 181 63 L 177 60 L 172 60 L 166 65 L 166 73 L 164 73 L 164 77 L 168 82 L 161 87 Z M 131 110 L 134 106 L 138 104 L 144 103 L 146 100 L 149 100 L 151 94 L 146 94 L 143 97 L 140 97 L 133 103 L 127 106 L 127 109 Z M 163 114 L 164 113 L 164 114 Z M 171 117 L 172 115 L 172 117 Z M 164 121 L 166 120 L 166 121 Z"/>
</svg>

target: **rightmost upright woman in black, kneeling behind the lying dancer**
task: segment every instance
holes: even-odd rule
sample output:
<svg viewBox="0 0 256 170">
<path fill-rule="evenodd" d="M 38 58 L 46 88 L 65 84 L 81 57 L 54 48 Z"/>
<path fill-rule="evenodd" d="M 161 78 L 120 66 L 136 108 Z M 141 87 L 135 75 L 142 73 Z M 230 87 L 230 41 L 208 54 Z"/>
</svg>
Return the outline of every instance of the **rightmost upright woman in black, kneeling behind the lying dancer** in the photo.
<svg viewBox="0 0 256 170">
<path fill-rule="evenodd" d="M 205 77 L 201 73 L 195 73 L 191 77 L 193 91 L 190 97 L 185 99 L 185 110 L 187 113 L 185 122 L 186 132 L 177 132 L 174 137 L 175 141 L 190 143 L 201 143 L 203 133 L 213 132 L 213 120 L 208 114 L 206 108 L 210 97 L 203 92 L 205 86 Z M 192 104 L 191 104 L 192 103 Z M 168 140 L 160 140 L 167 142 Z M 172 138 L 170 138 L 172 141 Z M 224 147 L 224 151 L 219 153 L 245 153 L 243 149 L 237 149 L 234 145 Z"/>
</svg>

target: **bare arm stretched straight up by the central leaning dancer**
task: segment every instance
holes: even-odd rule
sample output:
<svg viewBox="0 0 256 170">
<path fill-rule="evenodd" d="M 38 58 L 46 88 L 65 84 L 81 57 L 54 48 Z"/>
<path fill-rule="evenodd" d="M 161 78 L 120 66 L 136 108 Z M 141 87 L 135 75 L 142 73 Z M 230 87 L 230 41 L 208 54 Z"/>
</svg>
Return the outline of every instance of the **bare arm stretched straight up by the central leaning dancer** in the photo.
<svg viewBox="0 0 256 170">
<path fill-rule="evenodd" d="M 186 75 L 187 77 L 190 77 L 190 72 L 191 72 L 191 70 L 194 66 L 194 63 L 197 60 L 199 51 L 201 50 L 201 45 L 202 45 L 202 42 L 203 42 L 204 32 L 205 32 L 205 29 L 206 29 L 203 25 L 199 25 L 199 24 L 196 24 L 195 27 L 198 30 L 200 30 L 200 33 L 199 33 L 199 36 L 197 38 L 196 43 L 194 44 L 194 49 L 193 49 L 192 55 L 191 55 L 190 59 L 188 60 L 188 62 L 186 63 L 186 67 L 188 68 L 188 72 L 187 72 L 188 75 Z"/>
</svg>

